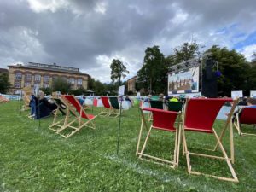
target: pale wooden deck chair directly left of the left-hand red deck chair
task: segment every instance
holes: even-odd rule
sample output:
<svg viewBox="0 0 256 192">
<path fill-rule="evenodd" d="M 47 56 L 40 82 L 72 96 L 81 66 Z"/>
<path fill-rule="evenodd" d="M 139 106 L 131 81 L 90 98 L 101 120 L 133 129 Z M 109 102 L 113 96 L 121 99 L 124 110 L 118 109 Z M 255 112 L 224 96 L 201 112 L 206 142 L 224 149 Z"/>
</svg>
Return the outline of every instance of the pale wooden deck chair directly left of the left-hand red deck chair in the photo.
<svg viewBox="0 0 256 192">
<path fill-rule="evenodd" d="M 55 117 L 49 129 L 52 131 L 59 131 L 61 127 L 65 127 L 69 122 L 71 122 L 72 116 L 77 118 L 78 115 L 75 112 L 75 109 L 72 108 L 68 103 L 60 97 L 53 98 L 57 109 L 55 109 Z M 63 118 L 63 116 L 65 117 Z M 61 119 L 59 118 L 61 116 Z"/>
</svg>

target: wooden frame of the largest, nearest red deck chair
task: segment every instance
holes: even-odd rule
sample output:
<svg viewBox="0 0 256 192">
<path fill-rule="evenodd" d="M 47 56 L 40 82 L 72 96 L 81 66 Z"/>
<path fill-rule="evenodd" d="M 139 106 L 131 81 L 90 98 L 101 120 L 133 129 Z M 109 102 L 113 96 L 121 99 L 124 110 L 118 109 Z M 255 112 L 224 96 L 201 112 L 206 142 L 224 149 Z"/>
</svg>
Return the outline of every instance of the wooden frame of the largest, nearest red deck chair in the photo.
<svg viewBox="0 0 256 192">
<path fill-rule="evenodd" d="M 190 174 L 195 174 L 195 175 L 204 175 L 204 176 L 208 176 L 208 177 L 214 177 L 214 178 L 218 178 L 219 180 L 224 180 L 224 181 L 230 181 L 230 182 L 234 182 L 234 183 L 238 183 L 238 178 L 236 177 L 236 172 L 230 162 L 230 158 L 228 157 L 228 155 L 226 154 L 225 152 L 225 149 L 224 149 L 224 146 L 223 144 L 221 143 L 221 137 L 218 137 L 218 134 L 217 132 L 214 130 L 214 128 L 212 127 L 212 132 L 208 131 L 208 133 L 213 133 L 214 137 L 216 138 L 216 141 L 218 143 L 218 147 L 220 148 L 222 154 L 223 154 L 223 157 L 221 156 L 215 156 L 215 155 L 209 155 L 209 154 L 199 154 L 199 153 L 193 153 L 193 152 L 190 152 L 189 149 L 188 149 L 188 145 L 187 145 L 187 141 L 186 141 L 186 135 L 185 135 L 185 132 L 186 132 L 186 129 L 187 131 L 193 131 L 187 127 L 185 127 L 185 119 L 186 119 L 186 112 L 188 110 L 188 106 L 189 106 L 189 101 L 191 99 L 188 99 L 187 102 L 186 102 L 186 105 L 185 105 L 185 109 L 184 109 L 184 116 L 183 116 L 183 126 L 182 126 L 182 132 L 183 132 L 183 154 L 186 155 L 186 160 L 187 160 L 187 168 L 188 168 L 188 172 L 189 172 L 189 175 Z M 237 103 L 238 101 L 236 101 Z M 236 103 L 233 104 L 233 107 L 232 109 L 230 110 L 230 115 L 227 119 L 227 122 L 226 125 L 230 125 L 230 146 L 233 147 L 233 127 L 232 127 L 232 124 L 230 122 L 230 117 L 232 115 L 232 113 L 234 112 L 234 109 L 236 108 Z M 216 114 L 217 116 L 217 114 Z M 224 130 L 226 129 L 226 126 L 224 126 Z M 207 133 L 206 130 L 200 130 L 200 129 L 195 129 L 194 131 L 199 131 L 199 132 L 204 132 L 204 133 Z M 222 135 L 223 137 L 223 135 Z M 234 154 L 234 148 L 231 148 L 231 156 L 232 154 Z M 212 158 L 212 159 L 218 159 L 218 160 L 225 160 L 227 165 L 229 166 L 229 169 L 230 169 L 230 172 L 231 172 L 231 175 L 232 177 L 219 177 L 219 176 L 215 176 L 215 175 L 211 175 L 211 174 L 206 174 L 206 173 L 203 173 L 203 172 L 195 172 L 195 171 L 192 171 L 192 166 L 190 164 L 190 158 L 189 158 L 189 155 L 195 155 L 195 156 L 201 156 L 201 157 L 207 157 L 207 158 Z"/>
</svg>

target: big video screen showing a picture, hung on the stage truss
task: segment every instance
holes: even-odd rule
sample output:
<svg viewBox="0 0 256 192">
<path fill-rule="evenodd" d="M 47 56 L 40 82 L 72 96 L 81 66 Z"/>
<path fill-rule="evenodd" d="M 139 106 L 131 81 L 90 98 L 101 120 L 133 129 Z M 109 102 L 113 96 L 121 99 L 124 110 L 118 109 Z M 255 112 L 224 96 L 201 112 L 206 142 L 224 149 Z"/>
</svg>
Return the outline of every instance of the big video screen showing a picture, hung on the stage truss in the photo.
<svg viewBox="0 0 256 192">
<path fill-rule="evenodd" d="M 199 91 L 199 67 L 191 67 L 168 75 L 168 95 Z"/>
</svg>

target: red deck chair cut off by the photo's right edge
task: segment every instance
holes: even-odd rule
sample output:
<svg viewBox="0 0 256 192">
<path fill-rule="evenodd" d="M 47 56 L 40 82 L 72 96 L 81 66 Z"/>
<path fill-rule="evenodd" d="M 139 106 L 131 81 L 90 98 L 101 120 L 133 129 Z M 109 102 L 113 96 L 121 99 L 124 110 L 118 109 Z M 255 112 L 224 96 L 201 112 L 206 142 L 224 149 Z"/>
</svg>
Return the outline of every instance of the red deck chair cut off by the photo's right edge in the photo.
<svg viewBox="0 0 256 192">
<path fill-rule="evenodd" d="M 256 125 L 256 108 L 241 108 L 239 113 L 236 113 L 234 126 L 238 134 L 241 136 L 256 136 L 253 133 L 246 133 L 241 131 L 241 124 Z"/>
</svg>

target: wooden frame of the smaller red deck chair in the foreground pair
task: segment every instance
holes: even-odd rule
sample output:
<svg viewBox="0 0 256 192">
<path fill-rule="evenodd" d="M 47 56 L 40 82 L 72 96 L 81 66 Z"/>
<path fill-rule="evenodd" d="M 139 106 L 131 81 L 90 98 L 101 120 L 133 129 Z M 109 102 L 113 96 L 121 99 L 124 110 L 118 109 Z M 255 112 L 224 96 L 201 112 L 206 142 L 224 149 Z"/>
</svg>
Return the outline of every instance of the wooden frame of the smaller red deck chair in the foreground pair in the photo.
<svg viewBox="0 0 256 192">
<path fill-rule="evenodd" d="M 179 161 L 179 148 L 180 148 L 180 141 L 181 141 L 181 115 L 180 115 L 180 113 L 161 110 L 162 113 L 173 113 L 173 114 L 177 115 L 176 118 L 174 119 L 174 122 L 175 122 L 176 119 L 178 119 L 179 122 L 180 122 L 177 126 L 176 131 L 169 131 L 169 132 L 175 132 L 175 144 L 174 144 L 174 151 L 173 151 L 173 160 L 165 160 L 165 159 L 162 159 L 162 158 L 159 158 L 159 157 L 155 157 L 153 155 L 144 154 L 144 150 L 145 150 L 146 145 L 148 143 L 148 138 L 150 136 L 150 133 L 151 133 L 152 129 L 163 130 L 163 128 L 154 127 L 154 125 L 150 125 L 150 127 L 148 128 L 147 120 L 144 116 L 143 110 L 147 110 L 147 111 L 151 110 L 152 111 L 152 110 L 160 110 L 160 109 L 155 109 L 155 108 L 143 108 L 142 109 L 142 108 L 140 108 L 140 112 L 141 112 L 141 115 L 142 115 L 142 123 L 141 123 L 141 128 L 140 128 L 140 131 L 139 131 L 138 141 L 137 141 L 136 155 L 138 155 L 139 158 L 142 159 L 142 160 L 154 160 L 154 163 L 157 163 L 157 164 L 168 165 L 172 168 L 177 167 L 178 166 L 178 161 Z M 174 124 L 174 122 L 173 122 L 173 124 Z M 143 147 L 140 150 L 139 148 L 140 148 L 140 143 L 141 143 L 141 139 L 142 139 L 142 135 L 143 135 L 143 128 L 146 129 L 146 131 L 148 131 L 148 133 L 147 133 L 147 136 L 146 136 L 145 141 L 143 143 Z"/>
</svg>

